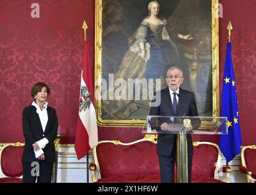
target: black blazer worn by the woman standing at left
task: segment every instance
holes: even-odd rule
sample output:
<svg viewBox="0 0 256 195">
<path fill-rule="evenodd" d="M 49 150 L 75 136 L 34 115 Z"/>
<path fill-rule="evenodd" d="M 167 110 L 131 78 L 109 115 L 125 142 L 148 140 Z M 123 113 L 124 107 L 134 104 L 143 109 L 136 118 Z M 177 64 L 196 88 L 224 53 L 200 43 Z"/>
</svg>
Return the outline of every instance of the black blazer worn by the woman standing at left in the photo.
<svg viewBox="0 0 256 195">
<path fill-rule="evenodd" d="M 59 126 L 56 110 L 54 108 L 47 107 L 48 122 L 45 127 L 45 132 L 43 132 L 42 124 L 36 110 L 37 108 L 35 108 L 34 105 L 30 105 L 29 107 L 25 107 L 23 109 L 22 124 L 25 146 L 22 161 L 38 161 L 38 159 L 35 158 L 35 152 L 32 144 L 46 138 L 49 143 L 46 144 L 45 148 L 43 148 L 43 152 L 45 153 L 45 161 L 54 162 L 54 140 L 57 137 L 57 128 Z"/>
</svg>

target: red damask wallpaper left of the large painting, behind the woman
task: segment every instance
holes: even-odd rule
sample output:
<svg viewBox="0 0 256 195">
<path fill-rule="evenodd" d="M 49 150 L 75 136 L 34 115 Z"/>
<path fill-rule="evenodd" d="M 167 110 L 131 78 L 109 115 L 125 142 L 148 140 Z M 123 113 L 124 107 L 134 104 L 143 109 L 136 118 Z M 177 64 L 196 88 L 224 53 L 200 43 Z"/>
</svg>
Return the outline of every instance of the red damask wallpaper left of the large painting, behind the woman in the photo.
<svg viewBox="0 0 256 195">
<path fill-rule="evenodd" d="M 32 85 L 43 81 L 51 88 L 48 102 L 57 110 L 60 131 L 67 136 L 64 141 L 73 143 L 84 50 L 82 23 L 86 19 L 93 62 L 95 2 L 38 0 L 40 18 L 32 18 L 34 2 L 0 1 L 0 142 L 24 140 L 22 109 L 32 102 Z"/>
</svg>

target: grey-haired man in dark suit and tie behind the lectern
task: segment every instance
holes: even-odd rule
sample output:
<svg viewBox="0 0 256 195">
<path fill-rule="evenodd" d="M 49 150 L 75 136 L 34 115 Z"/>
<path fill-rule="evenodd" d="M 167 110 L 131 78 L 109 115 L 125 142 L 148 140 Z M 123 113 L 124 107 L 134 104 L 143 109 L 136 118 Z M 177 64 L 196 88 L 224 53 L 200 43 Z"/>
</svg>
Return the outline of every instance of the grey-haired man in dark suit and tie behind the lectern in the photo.
<svg viewBox="0 0 256 195">
<path fill-rule="evenodd" d="M 168 69 L 166 82 L 168 87 L 157 91 L 155 102 L 159 105 L 150 109 L 150 115 L 159 116 L 198 116 L 194 93 L 183 90 L 180 85 L 184 77 L 182 70 L 176 66 Z M 161 130 L 167 130 L 167 123 L 161 124 Z M 174 161 L 177 153 L 177 135 L 170 133 L 159 133 L 157 143 L 157 154 L 159 156 L 159 167 L 161 182 L 174 182 Z M 191 182 L 193 145 L 191 135 L 187 135 L 188 142 L 188 182 Z"/>
</svg>

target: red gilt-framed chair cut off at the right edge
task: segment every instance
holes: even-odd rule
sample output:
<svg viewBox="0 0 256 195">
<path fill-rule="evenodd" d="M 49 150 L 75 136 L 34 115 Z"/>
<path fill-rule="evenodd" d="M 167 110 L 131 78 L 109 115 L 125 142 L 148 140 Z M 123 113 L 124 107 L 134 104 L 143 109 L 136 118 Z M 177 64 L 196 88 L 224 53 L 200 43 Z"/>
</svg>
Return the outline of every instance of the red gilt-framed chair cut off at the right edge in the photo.
<svg viewBox="0 0 256 195">
<path fill-rule="evenodd" d="M 242 166 L 240 171 L 246 174 L 247 182 L 256 181 L 256 145 L 244 146 L 241 151 Z"/>
</svg>

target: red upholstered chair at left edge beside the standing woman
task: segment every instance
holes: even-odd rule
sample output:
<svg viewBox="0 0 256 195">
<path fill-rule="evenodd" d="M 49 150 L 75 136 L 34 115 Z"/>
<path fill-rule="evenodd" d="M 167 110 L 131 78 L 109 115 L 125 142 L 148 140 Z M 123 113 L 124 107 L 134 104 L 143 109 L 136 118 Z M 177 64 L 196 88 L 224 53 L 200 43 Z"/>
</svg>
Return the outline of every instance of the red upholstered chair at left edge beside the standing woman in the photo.
<svg viewBox="0 0 256 195">
<path fill-rule="evenodd" d="M 0 151 L 0 183 L 21 183 L 23 143 L 3 144 Z"/>
</svg>

